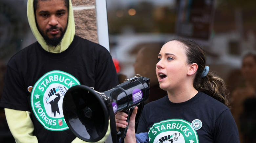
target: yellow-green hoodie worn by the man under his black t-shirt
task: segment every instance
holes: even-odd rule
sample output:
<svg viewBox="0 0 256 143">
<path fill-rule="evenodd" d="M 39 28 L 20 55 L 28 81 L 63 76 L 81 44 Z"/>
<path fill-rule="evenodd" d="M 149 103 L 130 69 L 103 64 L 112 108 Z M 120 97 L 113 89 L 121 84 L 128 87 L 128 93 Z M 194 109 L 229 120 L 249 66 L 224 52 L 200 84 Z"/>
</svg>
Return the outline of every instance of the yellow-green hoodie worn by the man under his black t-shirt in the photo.
<svg viewBox="0 0 256 143">
<path fill-rule="evenodd" d="M 31 27 L 31 30 L 40 43 L 40 45 L 48 52 L 51 53 L 60 53 L 65 51 L 75 36 L 75 21 L 71 0 L 69 0 L 69 16 L 68 16 L 68 25 L 66 32 L 61 40 L 61 43 L 56 47 L 51 47 L 46 45 L 45 40 L 42 35 L 39 33 L 34 16 L 33 0 L 28 0 L 27 4 L 27 16 L 28 21 Z M 31 120 L 31 112 L 29 111 L 20 111 L 5 108 L 6 119 L 10 128 L 10 131 L 16 141 L 16 143 L 38 143 L 36 136 L 33 135 L 34 126 Z M 104 143 L 108 135 L 110 134 L 110 125 L 106 135 L 97 143 Z M 75 138 L 72 143 L 86 143 L 85 141 Z"/>
</svg>

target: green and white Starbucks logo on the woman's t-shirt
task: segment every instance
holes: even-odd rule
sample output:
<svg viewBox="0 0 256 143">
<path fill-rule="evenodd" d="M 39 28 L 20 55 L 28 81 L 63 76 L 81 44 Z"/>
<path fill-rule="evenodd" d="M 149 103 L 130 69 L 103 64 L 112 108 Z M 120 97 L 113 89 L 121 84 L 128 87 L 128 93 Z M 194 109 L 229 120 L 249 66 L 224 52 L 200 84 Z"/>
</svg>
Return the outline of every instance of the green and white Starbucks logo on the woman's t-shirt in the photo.
<svg viewBox="0 0 256 143">
<path fill-rule="evenodd" d="M 149 143 L 199 143 L 196 130 L 182 119 L 168 119 L 155 123 L 148 132 Z"/>
</svg>

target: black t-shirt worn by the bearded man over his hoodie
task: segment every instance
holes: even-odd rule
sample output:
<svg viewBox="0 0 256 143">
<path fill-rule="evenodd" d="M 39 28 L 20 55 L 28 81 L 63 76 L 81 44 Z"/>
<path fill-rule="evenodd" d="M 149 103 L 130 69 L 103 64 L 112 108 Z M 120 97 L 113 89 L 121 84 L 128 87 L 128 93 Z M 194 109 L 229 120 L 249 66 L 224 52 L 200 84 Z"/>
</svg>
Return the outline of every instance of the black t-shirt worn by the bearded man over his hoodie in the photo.
<svg viewBox="0 0 256 143">
<path fill-rule="evenodd" d="M 68 143 L 75 135 L 65 123 L 62 100 L 68 88 L 79 84 L 99 92 L 118 85 L 104 47 L 75 36 L 68 49 L 50 53 L 35 42 L 10 59 L 0 107 L 30 111 L 39 142 Z M 47 97 L 53 88 L 59 94 Z"/>
</svg>

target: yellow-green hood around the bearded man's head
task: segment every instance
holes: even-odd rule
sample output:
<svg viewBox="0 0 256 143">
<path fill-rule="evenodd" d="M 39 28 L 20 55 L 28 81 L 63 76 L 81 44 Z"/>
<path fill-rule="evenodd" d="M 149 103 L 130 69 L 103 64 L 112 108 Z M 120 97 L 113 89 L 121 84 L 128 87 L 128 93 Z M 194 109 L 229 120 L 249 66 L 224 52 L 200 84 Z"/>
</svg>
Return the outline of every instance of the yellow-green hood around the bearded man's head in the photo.
<svg viewBox="0 0 256 143">
<path fill-rule="evenodd" d="M 35 15 L 34 15 L 34 7 L 33 7 L 34 0 L 28 0 L 27 5 L 27 16 L 30 28 L 32 30 L 32 33 L 34 34 L 36 40 L 39 42 L 39 44 L 43 47 L 44 50 L 51 52 L 51 53 L 60 53 L 65 51 L 71 42 L 74 39 L 75 36 L 75 20 L 74 20 L 74 13 L 73 13 L 73 7 L 71 0 L 69 0 L 69 11 L 68 11 L 68 24 L 66 32 L 60 41 L 60 44 L 58 44 L 56 47 L 46 45 L 46 42 L 43 38 L 43 36 L 40 34 L 39 30 L 36 27 L 36 21 L 35 21 Z"/>
</svg>

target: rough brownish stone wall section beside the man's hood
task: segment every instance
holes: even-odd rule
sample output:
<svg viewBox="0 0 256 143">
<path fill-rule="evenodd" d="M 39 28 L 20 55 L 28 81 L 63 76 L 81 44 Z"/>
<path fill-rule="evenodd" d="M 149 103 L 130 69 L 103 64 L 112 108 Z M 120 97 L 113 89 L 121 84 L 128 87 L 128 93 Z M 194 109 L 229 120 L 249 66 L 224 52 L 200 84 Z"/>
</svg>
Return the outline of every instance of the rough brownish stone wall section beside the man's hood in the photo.
<svg viewBox="0 0 256 143">
<path fill-rule="evenodd" d="M 95 0 L 72 0 L 75 34 L 98 43 Z"/>
</svg>

